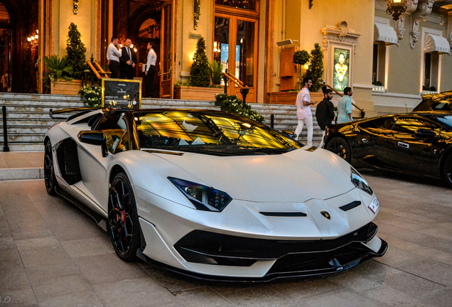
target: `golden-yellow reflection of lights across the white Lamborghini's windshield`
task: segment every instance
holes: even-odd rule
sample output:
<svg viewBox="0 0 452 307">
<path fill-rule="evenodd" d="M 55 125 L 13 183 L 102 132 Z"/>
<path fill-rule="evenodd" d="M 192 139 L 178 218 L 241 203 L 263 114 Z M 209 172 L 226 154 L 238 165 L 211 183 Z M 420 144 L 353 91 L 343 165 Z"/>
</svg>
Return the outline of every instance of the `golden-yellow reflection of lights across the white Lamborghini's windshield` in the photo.
<svg viewBox="0 0 452 307">
<path fill-rule="evenodd" d="M 136 121 L 141 148 L 228 144 L 240 147 L 291 149 L 295 141 L 265 126 L 209 113 L 149 113 Z"/>
</svg>

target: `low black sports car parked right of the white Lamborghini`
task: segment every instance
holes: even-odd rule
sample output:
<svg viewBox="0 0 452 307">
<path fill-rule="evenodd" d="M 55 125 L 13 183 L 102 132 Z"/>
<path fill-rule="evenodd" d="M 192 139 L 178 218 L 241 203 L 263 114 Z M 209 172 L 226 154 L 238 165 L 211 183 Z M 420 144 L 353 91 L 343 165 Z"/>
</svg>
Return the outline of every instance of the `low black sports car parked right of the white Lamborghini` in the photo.
<svg viewBox="0 0 452 307">
<path fill-rule="evenodd" d="M 443 178 L 452 188 L 452 112 L 393 114 L 328 127 L 325 149 L 355 166 Z"/>
</svg>

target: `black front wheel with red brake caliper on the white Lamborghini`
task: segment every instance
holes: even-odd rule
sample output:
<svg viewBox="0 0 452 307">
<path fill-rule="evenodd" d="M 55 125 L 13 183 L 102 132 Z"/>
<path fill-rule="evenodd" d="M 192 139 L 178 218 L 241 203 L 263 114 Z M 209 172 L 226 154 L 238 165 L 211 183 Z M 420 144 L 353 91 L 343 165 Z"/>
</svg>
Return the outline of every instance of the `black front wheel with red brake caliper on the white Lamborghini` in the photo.
<svg viewBox="0 0 452 307">
<path fill-rule="evenodd" d="M 109 190 L 109 233 L 119 258 L 132 262 L 140 247 L 140 228 L 134 192 L 125 173 L 114 176 Z"/>
</svg>

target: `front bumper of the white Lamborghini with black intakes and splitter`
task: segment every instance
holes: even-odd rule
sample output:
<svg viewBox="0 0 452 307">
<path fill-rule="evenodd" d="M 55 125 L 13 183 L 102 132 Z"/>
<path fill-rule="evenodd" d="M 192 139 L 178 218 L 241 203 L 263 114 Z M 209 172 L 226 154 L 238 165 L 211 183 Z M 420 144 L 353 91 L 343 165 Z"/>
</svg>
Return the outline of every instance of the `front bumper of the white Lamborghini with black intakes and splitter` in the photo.
<svg viewBox="0 0 452 307">
<path fill-rule="evenodd" d="M 156 228 L 140 219 L 152 246 L 142 255 L 201 279 L 269 281 L 289 276 L 331 274 L 381 257 L 387 243 L 373 222 L 335 239 L 272 240 L 194 230 L 168 247 Z"/>
</svg>

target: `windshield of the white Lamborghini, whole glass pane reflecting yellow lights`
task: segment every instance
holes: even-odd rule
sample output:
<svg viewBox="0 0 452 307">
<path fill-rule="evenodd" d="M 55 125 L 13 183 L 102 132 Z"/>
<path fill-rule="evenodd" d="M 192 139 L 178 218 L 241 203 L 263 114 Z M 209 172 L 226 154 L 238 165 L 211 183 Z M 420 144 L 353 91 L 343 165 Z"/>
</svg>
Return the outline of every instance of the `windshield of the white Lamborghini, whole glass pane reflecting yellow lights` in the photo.
<svg viewBox="0 0 452 307">
<path fill-rule="evenodd" d="M 215 155 L 284 154 L 301 144 L 262 124 L 223 112 L 135 112 L 141 149 Z"/>
</svg>

